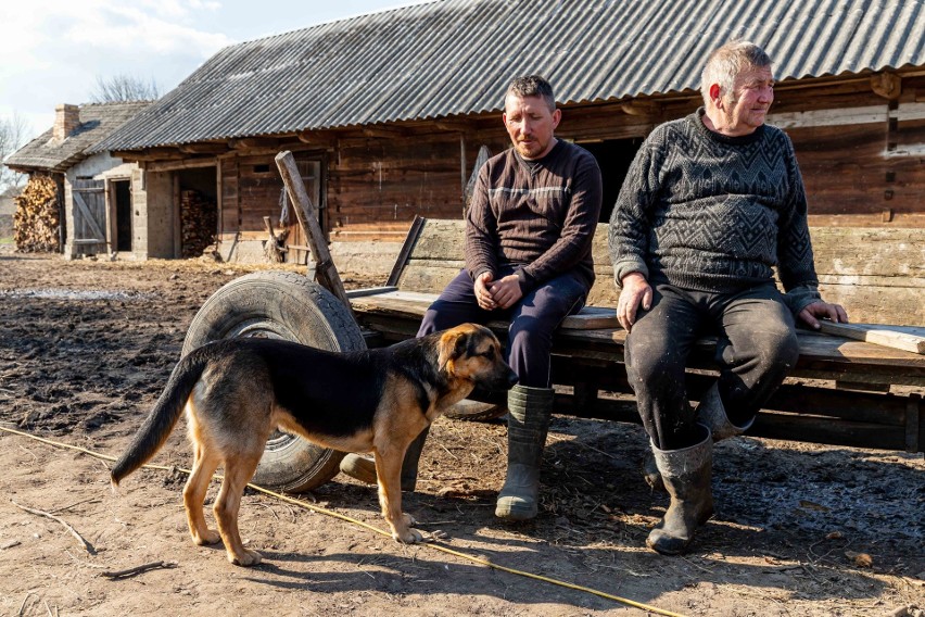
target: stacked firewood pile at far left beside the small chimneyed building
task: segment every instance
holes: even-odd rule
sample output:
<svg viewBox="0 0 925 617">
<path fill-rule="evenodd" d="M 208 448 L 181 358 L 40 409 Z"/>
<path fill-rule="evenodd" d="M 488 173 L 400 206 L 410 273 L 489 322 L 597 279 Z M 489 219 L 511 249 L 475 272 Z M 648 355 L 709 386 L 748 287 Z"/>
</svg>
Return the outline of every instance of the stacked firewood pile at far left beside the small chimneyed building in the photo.
<svg viewBox="0 0 925 617">
<path fill-rule="evenodd" d="M 33 176 L 15 198 L 13 241 L 21 253 L 52 253 L 61 250 L 61 207 L 58 182 L 49 176 Z"/>
</svg>

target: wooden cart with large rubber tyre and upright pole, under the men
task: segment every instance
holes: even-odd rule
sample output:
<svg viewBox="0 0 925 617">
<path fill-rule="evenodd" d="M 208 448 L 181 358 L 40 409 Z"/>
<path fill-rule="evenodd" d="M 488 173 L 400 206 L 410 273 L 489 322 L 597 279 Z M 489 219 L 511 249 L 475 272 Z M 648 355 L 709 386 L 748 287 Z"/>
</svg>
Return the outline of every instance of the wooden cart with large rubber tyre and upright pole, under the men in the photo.
<svg viewBox="0 0 925 617">
<path fill-rule="evenodd" d="M 415 219 L 385 287 L 345 292 L 300 181 L 291 154 L 277 156 L 295 213 L 309 239 L 314 272 L 262 272 L 236 279 L 194 317 L 185 353 L 210 340 L 238 336 L 284 338 L 331 351 L 381 347 L 414 337 L 425 311 L 463 267 L 463 221 Z M 623 366 L 625 331 L 616 319 L 607 266 L 606 225 L 595 238 L 598 280 L 588 306 L 568 317 L 553 348 L 555 412 L 638 423 Z M 317 279 L 315 282 L 312 279 Z M 912 299 L 925 289 L 912 290 Z M 921 303 L 922 298 L 917 298 Z M 507 324 L 493 322 L 504 340 Z M 860 328 L 871 336 L 870 329 Z M 876 328 L 888 343 L 799 331 L 799 362 L 749 430 L 774 439 L 925 452 L 925 328 Z M 717 366 L 713 340 L 700 341 L 688 367 L 697 400 Z M 332 478 L 343 453 L 275 433 L 254 480 L 292 492 Z"/>
</svg>

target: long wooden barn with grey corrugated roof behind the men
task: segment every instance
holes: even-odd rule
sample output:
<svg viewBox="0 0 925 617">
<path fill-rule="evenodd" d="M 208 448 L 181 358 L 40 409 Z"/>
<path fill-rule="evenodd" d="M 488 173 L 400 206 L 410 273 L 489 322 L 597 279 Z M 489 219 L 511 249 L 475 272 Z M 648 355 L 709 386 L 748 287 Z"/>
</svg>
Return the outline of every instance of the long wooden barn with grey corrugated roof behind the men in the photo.
<svg viewBox="0 0 925 617">
<path fill-rule="evenodd" d="M 288 231 L 287 261 L 304 261 L 295 217 L 279 226 L 274 156 L 289 150 L 334 260 L 365 247 L 375 267 L 385 247 L 388 272 L 414 217 L 460 218 L 480 152 L 508 147 L 511 77 L 556 87 L 557 135 L 597 158 L 606 221 L 645 136 L 700 104 L 709 51 L 750 39 L 775 61 L 770 122 L 790 135 L 818 243 L 835 252 L 823 282 L 853 286 L 863 320 L 925 325 L 925 49 L 920 26 L 894 27 L 925 23 L 925 10 L 722 5 L 441 0 L 321 24 L 218 52 L 98 149 L 139 163 L 136 210 L 162 238 L 141 257 L 181 254 L 178 196 L 195 189 L 215 201 L 223 259 L 264 259 L 268 216 Z"/>
</svg>

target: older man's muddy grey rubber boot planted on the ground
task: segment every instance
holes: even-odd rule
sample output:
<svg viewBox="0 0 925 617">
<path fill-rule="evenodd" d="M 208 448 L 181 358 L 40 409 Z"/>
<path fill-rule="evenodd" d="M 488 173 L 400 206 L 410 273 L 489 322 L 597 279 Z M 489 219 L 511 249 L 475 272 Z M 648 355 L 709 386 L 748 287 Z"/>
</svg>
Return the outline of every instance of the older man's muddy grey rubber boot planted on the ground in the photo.
<svg viewBox="0 0 925 617">
<path fill-rule="evenodd" d="M 696 425 L 701 439 L 681 450 L 659 450 L 651 444 L 656 465 L 671 495 L 671 505 L 646 539 L 646 545 L 662 555 L 680 555 L 697 527 L 713 515 L 710 487 L 713 463 L 713 439 L 710 429 Z"/>
</svg>

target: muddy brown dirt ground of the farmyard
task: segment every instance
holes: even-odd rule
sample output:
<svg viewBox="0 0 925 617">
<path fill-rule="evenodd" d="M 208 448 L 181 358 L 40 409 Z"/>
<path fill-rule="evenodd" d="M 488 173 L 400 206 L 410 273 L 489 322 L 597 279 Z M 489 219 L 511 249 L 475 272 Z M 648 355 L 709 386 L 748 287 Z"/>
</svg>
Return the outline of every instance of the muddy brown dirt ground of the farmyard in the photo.
<svg viewBox="0 0 925 617">
<path fill-rule="evenodd" d="M 118 455 L 199 306 L 244 272 L 0 247 L 0 427 Z M 349 287 L 382 282 L 343 276 Z M 153 463 L 189 467 L 183 433 Z M 922 454 L 718 444 L 717 515 L 690 554 L 663 557 L 644 544 L 667 498 L 638 474 L 639 427 L 556 416 L 541 514 L 521 525 L 493 514 L 504 424 L 441 418 L 431 436 L 405 509 L 461 553 L 683 615 L 925 615 Z M 190 541 L 177 470 L 138 471 L 114 493 L 104 461 L 7 431 L 0 468 L 0 615 L 647 614 L 251 491 L 241 530 L 264 563 L 236 567 L 220 546 Z M 375 489 L 343 476 L 302 499 L 384 527 Z M 153 562 L 173 567 L 103 575 Z"/>
</svg>

